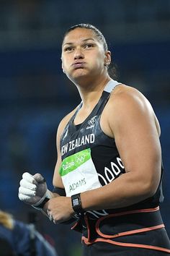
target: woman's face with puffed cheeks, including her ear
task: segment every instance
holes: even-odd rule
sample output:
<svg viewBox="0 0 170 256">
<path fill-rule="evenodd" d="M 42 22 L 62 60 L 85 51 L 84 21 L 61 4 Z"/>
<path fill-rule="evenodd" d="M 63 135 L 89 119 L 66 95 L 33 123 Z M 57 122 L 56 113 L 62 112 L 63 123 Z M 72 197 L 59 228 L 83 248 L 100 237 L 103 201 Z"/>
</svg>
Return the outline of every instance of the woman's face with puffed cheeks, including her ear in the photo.
<svg viewBox="0 0 170 256">
<path fill-rule="evenodd" d="M 104 63 L 110 59 L 109 51 L 104 51 L 102 41 L 93 30 L 78 27 L 71 30 L 63 40 L 62 68 L 73 82 L 82 78 L 99 77 L 106 72 Z"/>
</svg>

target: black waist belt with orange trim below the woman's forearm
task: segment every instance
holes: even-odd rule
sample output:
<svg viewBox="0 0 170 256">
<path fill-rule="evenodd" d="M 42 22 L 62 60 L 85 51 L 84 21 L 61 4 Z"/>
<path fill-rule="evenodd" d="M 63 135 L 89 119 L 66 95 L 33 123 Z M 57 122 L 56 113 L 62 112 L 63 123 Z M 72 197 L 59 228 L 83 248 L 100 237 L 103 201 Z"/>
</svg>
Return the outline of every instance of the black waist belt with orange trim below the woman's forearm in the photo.
<svg viewBox="0 0 170 256">
<path fill-rule="evenodd" d="M 81 229 L 82 242 L 87 245 L 107 242 L 120 247 L 138 247 L 170 253 L 170 246 L 162 247 L 164 243 L 162 244 L 161 239 L 160 242 L 158 241 L 159 244 L 151 245 L 148 236 L 143 236 L 145 244 L 140 244 L 141 240 L 138 236 L 144 232 L 150 236 L 151 231 L 164 229 L 159 207 L 111 213 L 97 220 L 91 220 L 85 215 L 72 229 L 77 231 Z M 136 235 L 135 243 L 134 235 Z"/>
</svg>

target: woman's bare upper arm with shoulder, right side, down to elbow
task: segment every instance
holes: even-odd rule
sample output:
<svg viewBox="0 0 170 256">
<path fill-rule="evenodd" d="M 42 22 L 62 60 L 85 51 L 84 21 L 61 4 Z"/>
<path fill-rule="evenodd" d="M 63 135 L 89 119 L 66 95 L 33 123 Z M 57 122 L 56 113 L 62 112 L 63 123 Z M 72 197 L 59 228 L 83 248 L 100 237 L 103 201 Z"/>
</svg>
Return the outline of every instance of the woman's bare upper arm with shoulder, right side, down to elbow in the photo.
<svg viewBox="0 0 170 256">
<path fill-rule="evenodd" d="M 134 89 L 113 96 L 109 108 L 109 127 L 125 171 L 154 193 L 161 177 L 161 146 L 151 104 Z"/>
</svg>

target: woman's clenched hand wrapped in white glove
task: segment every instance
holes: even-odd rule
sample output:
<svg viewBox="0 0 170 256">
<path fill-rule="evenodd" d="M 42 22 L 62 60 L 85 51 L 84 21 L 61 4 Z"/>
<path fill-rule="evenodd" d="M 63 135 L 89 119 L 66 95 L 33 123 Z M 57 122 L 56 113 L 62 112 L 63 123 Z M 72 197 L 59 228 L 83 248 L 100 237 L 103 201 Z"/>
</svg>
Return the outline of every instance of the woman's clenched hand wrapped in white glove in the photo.
<svg viewBox="0 0 170 256">
<path fill-rule="evenodd" d="M 25 172 L 19 184 L 19 200 L 29 205 L 38 205 L 48 192 L 47 184 L 41 174 L 32 176 L 28 172 Z"/>
</svg>

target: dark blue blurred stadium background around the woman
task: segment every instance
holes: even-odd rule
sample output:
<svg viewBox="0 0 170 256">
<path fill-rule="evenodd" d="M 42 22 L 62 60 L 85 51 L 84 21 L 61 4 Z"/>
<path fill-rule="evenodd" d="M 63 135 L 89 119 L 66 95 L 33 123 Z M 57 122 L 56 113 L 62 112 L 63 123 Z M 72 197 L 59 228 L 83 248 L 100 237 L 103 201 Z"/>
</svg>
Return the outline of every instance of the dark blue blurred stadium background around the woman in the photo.
<svg viewBox="0 0 170 256">
<path fill-rule="evenodd" d="M 1 209 L 29 221 L 31 209 L 17 197 L 24 171 L 40 172 L 53 189 L 55 133 L 80 101 L 61 70 L 61 41 L 80 22 L 102 30 L 118 80 L 146 95 L 158 116 L 165 168 L 161 212 L 170 234 L 169 0 L 0 0 Z M 80 255 L 80 235 L 69 226 L 37 213 L 37 229 L 59 256 Z"/>
</svg>

